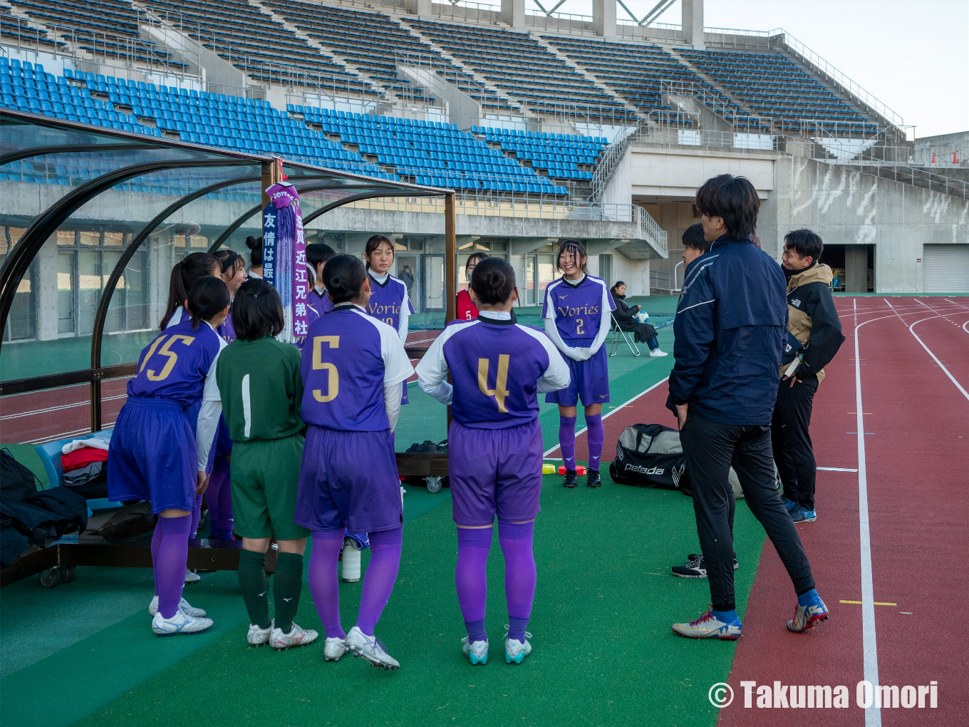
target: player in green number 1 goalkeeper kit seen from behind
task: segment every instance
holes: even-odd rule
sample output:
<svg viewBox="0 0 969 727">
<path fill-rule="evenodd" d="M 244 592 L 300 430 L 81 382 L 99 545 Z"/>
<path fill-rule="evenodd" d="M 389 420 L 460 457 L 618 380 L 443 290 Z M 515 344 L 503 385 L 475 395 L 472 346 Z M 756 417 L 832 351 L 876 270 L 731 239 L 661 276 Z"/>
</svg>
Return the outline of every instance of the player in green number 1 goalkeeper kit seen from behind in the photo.
<svg viewBox="0 0 969 727">
<path fill-rule="evenodd" d="M 238 337 L 219 357 L 215 376 L 234 441 L 232 492 L 235 529 L 242 536 L 238 578 L 249 612 L 246 639 L 254 647 L 303 647 L 316 641 L 317 632 L 293 621 L 309 535 L 294 522 L 303 450 L 299 352 L 273 337 L 285 325 L 283 303 L 265 280 L 242 284 L 233 318 Z M 276 614 L 270 620 L 266 550 L 273 537 L 279 557 L 272 579 Z"/>
</svg>

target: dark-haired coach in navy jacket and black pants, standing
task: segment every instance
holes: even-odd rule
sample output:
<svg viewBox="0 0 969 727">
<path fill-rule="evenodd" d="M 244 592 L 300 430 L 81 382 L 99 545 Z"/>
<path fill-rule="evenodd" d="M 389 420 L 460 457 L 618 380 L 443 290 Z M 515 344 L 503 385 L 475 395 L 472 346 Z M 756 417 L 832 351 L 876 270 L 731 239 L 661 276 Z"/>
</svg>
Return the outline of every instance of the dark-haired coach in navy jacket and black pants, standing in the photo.
<svg viewBox="0 0 969 727">
<path fill-rule="evenodd" d="M 703 237 L 712 244 L 686 269 L 676 305 L 676 364 L 668 406 L 676 414 L 686 456 L 712 608 L 672 628 L 698 639 L 740 636 L 735 501 L 729 481 L 733 466 L 751 512 L 794 582 L 798 606 L 788 628 L 805 631 L 828 612 L 814 589 L 797 528 L 777 493 L 770 446 L 787 336 L 784 272 L 750 241 L 760 200 L 747 179 L 730 174 L 707 179 L 697 191 L 696 205 L 703 215 Z"/>
</svg>

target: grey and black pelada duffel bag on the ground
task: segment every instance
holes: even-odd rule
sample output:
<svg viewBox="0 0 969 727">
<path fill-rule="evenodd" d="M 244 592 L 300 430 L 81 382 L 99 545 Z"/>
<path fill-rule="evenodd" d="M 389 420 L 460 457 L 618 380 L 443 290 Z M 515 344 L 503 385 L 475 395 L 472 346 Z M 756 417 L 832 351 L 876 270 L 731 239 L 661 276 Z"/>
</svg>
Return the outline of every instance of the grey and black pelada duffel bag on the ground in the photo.
<svg viewBox="0 0 969 727">
<path fill-rule="evenodd" d="M 623 429 L 615 445 L 609 474 L 612 482 L 622 485 L 691 494 L 679 432 L 663 425 L 633 425 Z"/>
</svg>

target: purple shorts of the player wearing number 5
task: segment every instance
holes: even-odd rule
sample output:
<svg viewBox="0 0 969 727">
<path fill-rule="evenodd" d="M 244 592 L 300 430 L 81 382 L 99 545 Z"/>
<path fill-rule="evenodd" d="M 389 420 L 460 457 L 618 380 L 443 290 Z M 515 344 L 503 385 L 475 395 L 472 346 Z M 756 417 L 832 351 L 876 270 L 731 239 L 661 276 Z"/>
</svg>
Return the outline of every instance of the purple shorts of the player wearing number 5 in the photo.
<svg viewBox="0 0 969 727">
<path fill-rule="evenodd" d="M 393 434 L 310 425 L 297 490 L 297 525 L 377 532 L 404 522 Z"/>
</svg>

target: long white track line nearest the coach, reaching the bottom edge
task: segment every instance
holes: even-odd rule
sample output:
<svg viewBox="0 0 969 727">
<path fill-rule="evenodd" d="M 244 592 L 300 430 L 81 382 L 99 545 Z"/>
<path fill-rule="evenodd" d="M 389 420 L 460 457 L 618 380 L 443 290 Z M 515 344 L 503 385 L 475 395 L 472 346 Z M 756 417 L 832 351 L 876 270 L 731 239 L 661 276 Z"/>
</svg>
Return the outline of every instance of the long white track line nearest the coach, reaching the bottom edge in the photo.
<svg viewBox="0 0 969 727">
<path fill-rule="evenodd" d="M 858 305 L 856 300 L 856 307 Z M 876 319 L 877 320 L 877 319 Z M 865 321 L 870 323 L 870 321 Z M 861 326 L 865 325 L 862 323 Z M 858 514 L 861 551 L 861 653 L 864 657 L 864 679 L 878 687 L 878 645 L 875 637 L 875 586 L 871 575 L 871 535 L 868 529 L 868 471 L 864 457 L 864 422 L 861 413 L 861 366 L 858 339 L 858 316 L 855 316 L 855 411 L 858 431 Z M 882 712 L 872 704 L 864 711 L 865 727 L 881 727 Z"/>
</svg>

